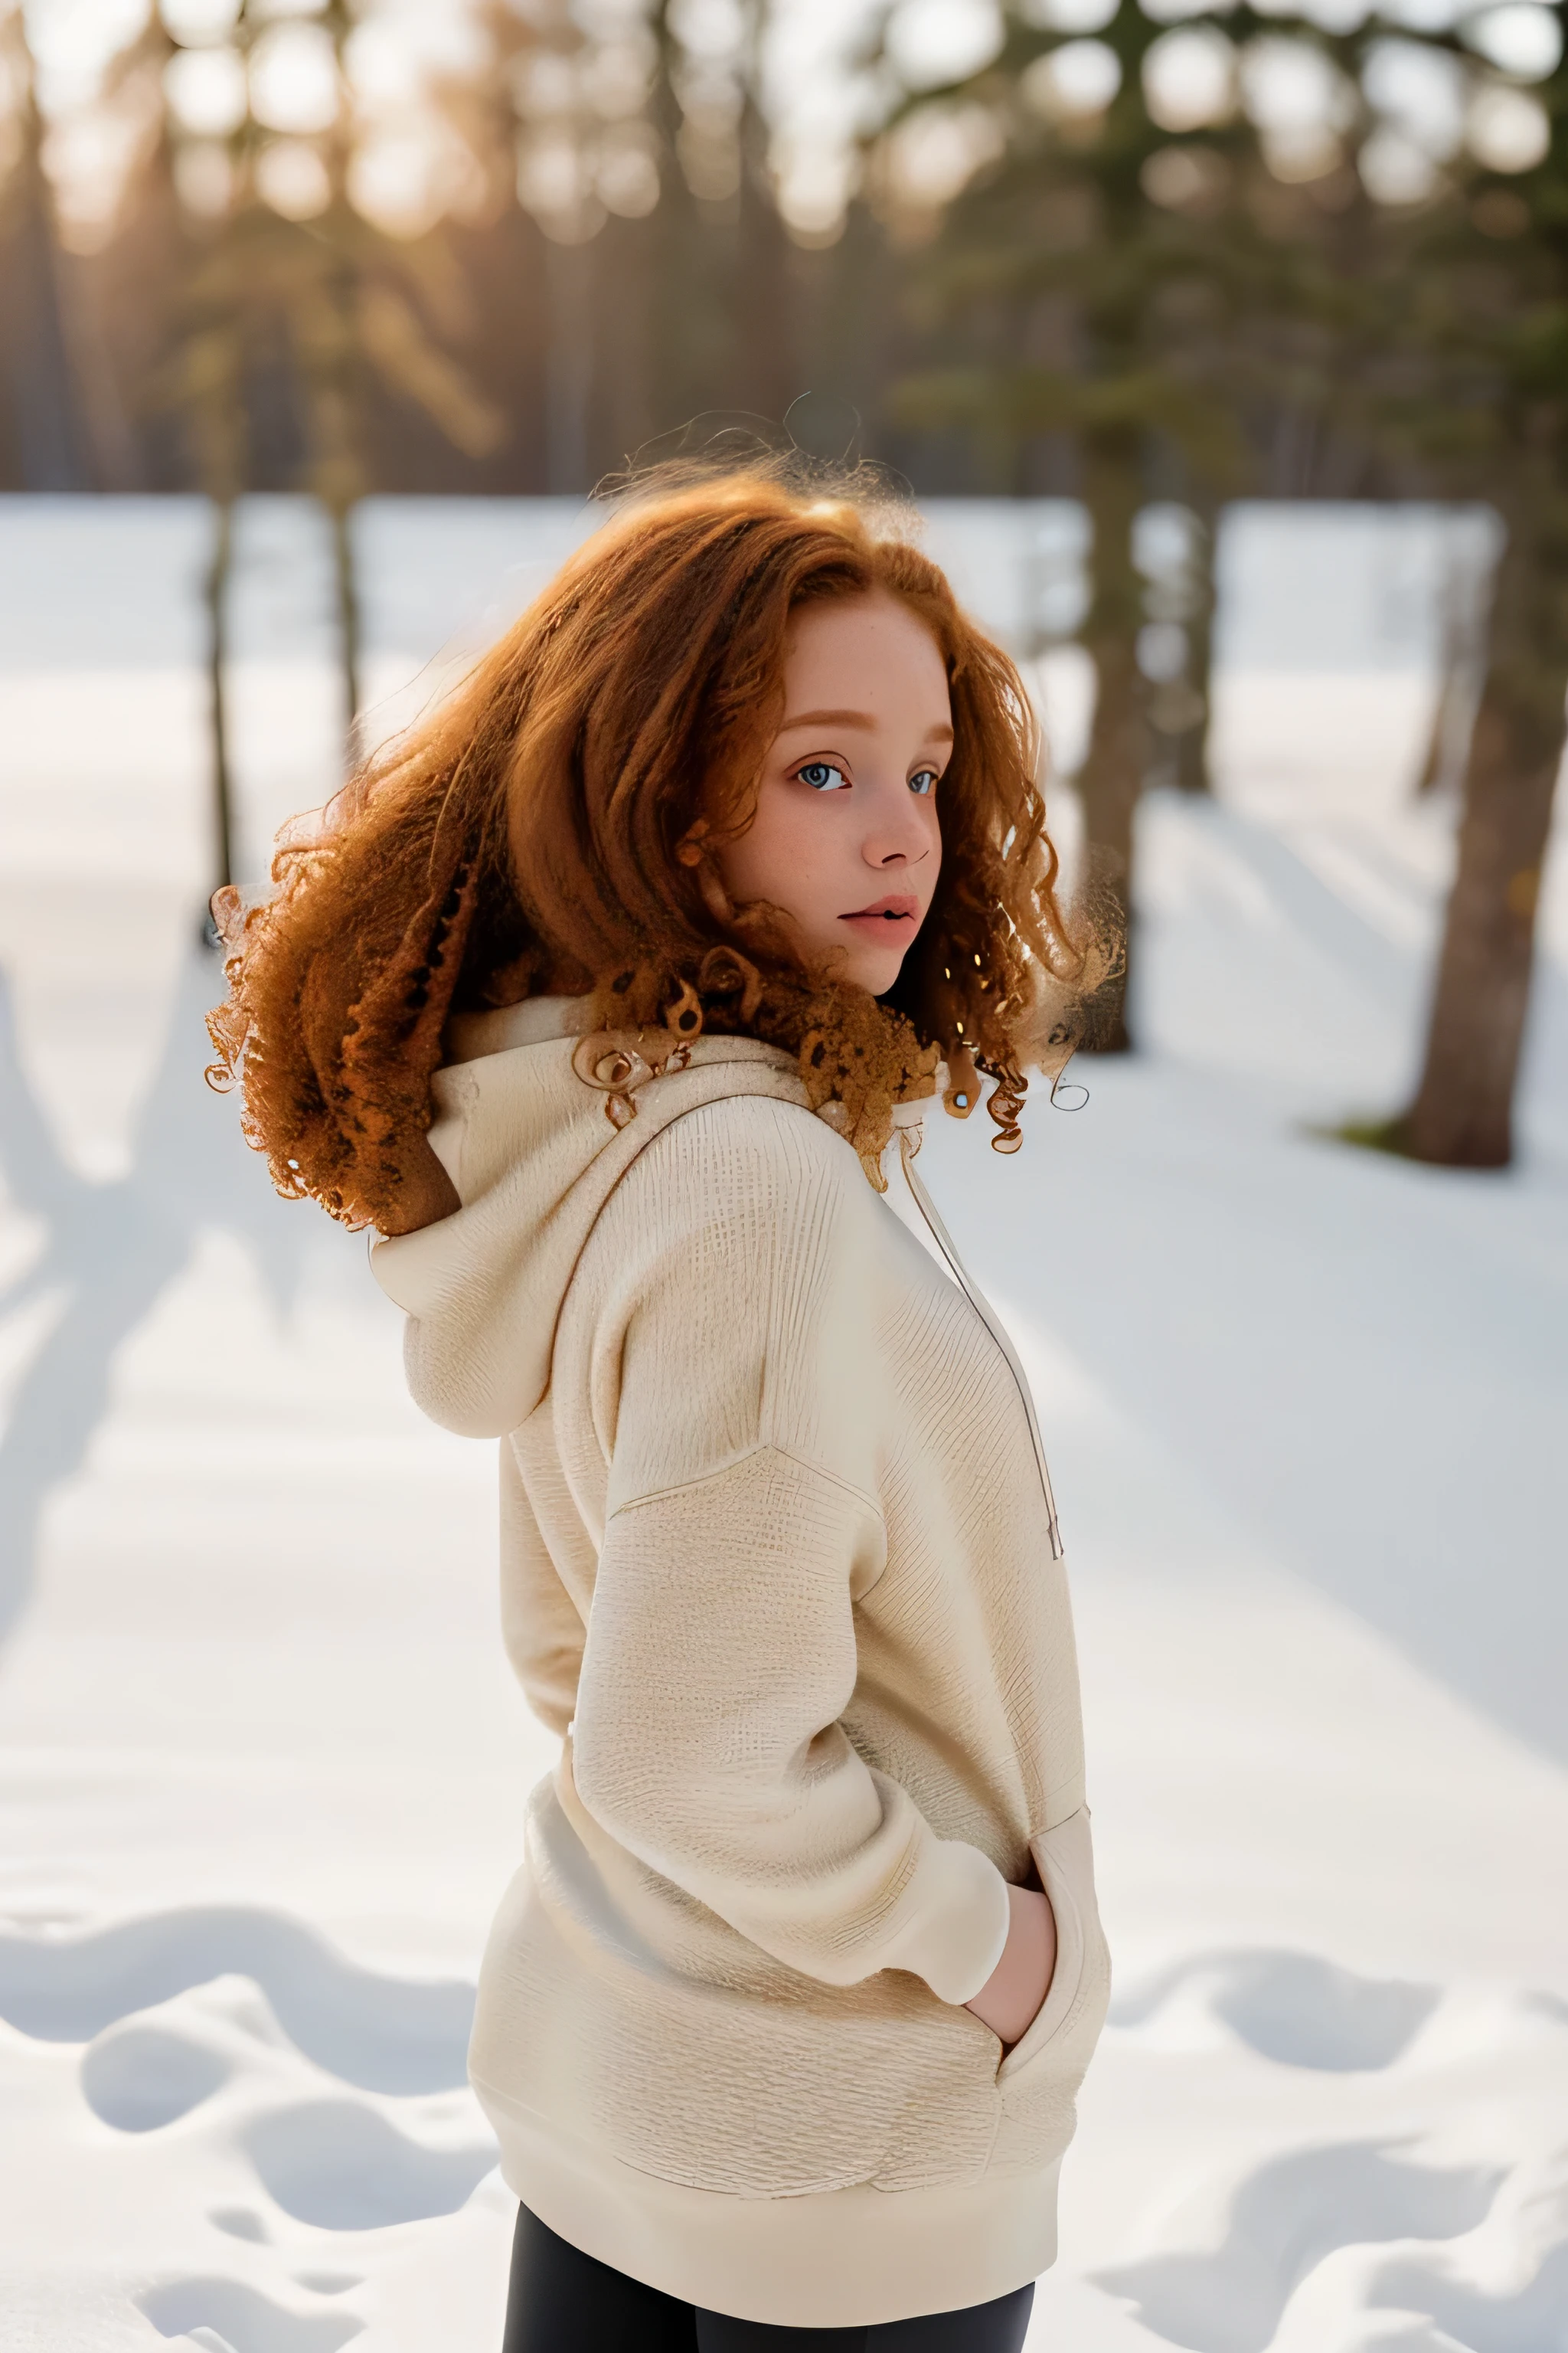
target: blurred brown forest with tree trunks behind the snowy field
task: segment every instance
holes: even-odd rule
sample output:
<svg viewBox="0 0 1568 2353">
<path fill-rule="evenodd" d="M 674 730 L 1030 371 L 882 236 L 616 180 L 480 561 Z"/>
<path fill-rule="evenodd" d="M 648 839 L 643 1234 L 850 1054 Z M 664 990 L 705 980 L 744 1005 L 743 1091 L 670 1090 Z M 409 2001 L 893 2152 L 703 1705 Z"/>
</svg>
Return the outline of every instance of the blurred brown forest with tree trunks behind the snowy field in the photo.
<svg viewBox="0 0 1568 2353">
<path fill-rule="evenodd" d="M 1091 656 L 1077 784 L 1131 908 L 1138 795 L 1208 791 L 1222 506 L 1448 506 L 1458 875 L 1425 1073 L 1354 1132 L 1429 1162 L 1512 1155 L 1566 400 L 1537 0 L 0 0 L 0 489 L 212 496 L 221 814 L 244 492 L 334 520 L 353 720 L 362 496 L 576 494 L 788 419 L 924 496 L 1084 504 L 1088 595 L 1041 574 L 1025 652 Z"/>
</svg>

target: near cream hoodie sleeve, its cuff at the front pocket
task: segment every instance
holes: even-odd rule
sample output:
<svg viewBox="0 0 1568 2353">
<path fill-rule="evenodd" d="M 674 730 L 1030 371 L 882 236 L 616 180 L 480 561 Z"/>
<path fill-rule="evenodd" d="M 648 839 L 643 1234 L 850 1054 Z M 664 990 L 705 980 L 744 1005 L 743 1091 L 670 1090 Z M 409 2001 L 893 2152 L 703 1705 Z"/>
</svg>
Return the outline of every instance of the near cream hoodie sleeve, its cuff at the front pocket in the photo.
<svg viewBox="0 0 1568 2353">
<path fill-rule="evenodd" d="M 595 1235 L 623 1273 L 595 1339 L 611 1480 L 578 1795 L 806 1977 L 912 1969 L 964 2002 L 1001 1958 L 1006 1885 L 839 1722 L 886 1558 L 875 1198 L 820 1122 L 755 1096 L 675 1122 L 618 1193 Z"/>
</svg>

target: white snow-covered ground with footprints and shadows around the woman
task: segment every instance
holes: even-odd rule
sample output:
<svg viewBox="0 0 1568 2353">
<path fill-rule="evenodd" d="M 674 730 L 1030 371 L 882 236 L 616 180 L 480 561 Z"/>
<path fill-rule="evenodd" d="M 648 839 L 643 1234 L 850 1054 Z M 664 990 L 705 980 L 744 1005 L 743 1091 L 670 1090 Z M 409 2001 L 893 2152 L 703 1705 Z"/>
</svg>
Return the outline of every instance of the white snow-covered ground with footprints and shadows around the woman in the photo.
<svg viewBox="0 0 1568 2353">
<path fill-rule="evenodd" d="M 383 722 L 578 529 L 374 508 Z M 1434 534 L 1232 520 L 1145 1052 L 922 1160 L 1039 1386 L 1119 1965 L 1032 2353 L 1568 2348 L 1561 849 L 1519 1169 L 1316 1132 L 1420 1047 Z M 933 544 L 1001 628 L 1070 602 L 1070 511 Z M 0 2346 L 491 2353 L 468 1988 L 550 1744 L 489 1449 L 200 1085 L 202 553 L 186 501 L 0 501 Z M 331 784 L 308 511 L 247 511 L 237 624 L 256 873 Z"/>
</svg>

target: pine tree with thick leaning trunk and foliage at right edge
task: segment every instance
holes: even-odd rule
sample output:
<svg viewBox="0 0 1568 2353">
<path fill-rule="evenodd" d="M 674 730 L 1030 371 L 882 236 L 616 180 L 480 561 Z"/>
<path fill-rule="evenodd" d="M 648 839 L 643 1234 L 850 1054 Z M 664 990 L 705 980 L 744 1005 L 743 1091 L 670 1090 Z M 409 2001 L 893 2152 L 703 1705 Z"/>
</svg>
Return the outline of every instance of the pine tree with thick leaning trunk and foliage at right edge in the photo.
<svg viewBox="0 0 1568 2353">
<path fill-rule="evenodd" d="M 1514 12 L 1526 16 L 1526 12 Z M 1488 19 L 1425 35 L 1467 92 L 1469 153 L 1396 224 L 1387 381 L 1371 416 L 1429 485 L 1505 529 L 1465 758 L 1458 871 L 1422 1075 L 1361 1141 L 1443 1167 L 1505 1167 L 1533 976 L 1540 873 L 1568 696 L 1568 68 L 1561 7 L 1537 54 L 1488 71 Z M 1556 64 L 1547 49 L 1556 49 Z M 1521 87 L 1535 82 L 1533 89 Z M 1403 369 L 1403 384 L 1399 372 Z"/>
</svg>

